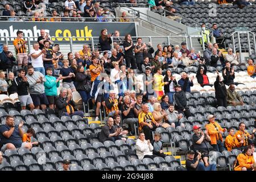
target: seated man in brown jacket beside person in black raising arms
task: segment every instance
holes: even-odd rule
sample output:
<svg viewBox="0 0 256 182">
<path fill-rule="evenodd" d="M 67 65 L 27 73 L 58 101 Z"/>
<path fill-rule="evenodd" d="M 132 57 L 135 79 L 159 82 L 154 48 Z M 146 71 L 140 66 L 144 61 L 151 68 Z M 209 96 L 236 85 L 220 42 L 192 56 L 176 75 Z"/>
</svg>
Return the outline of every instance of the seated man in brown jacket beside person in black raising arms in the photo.
<svg viewBox="0 0 256 182">
<path fill-rule="evenodd" d="M 237 106 L 237 105 L 245 105 L 243 104 L 243 100 L 241 96 L 235 91 L 234 84 L 230 84 L 229 88 L 226 90 L 228 96 L 226 101 L 228 102 L 229 106 Z M 239 102 L 238 102 L 239 101 Z"/>
</svg>

